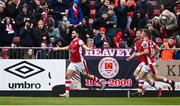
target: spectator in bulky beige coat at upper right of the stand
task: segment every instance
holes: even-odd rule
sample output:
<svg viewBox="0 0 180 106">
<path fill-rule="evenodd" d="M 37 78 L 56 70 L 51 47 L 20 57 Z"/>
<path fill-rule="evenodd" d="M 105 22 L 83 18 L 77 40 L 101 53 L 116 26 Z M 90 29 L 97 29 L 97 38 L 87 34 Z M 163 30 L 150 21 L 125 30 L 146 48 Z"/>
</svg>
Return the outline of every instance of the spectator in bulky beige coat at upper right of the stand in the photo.
<svg viewBox="0 0 180 106">
<path fill-rule="evenodd" d="M 166 31 L 166 37 L 174 35 L 175 29 L 178 27 L 177 19 L 174 13 L 164 10 L 159 16 L 162 27 Z"/>
</svg>

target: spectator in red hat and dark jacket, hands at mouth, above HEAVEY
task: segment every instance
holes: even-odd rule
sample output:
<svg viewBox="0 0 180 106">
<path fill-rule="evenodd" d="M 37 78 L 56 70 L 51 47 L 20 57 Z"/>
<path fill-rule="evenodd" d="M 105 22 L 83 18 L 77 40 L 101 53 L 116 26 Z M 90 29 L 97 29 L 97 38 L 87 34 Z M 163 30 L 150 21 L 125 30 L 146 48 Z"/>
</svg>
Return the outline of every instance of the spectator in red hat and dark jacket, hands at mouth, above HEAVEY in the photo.
<svg viewBox="0 0 180 106">
<path fill-rule="evenodd" d="M 110 42 L 109 37 L 106 35 L 106 31 L 105 27 L 99 28 L 99 34 L 94 37 L 94 45 L 96 48 L 102 48 L 104 41 Z"/>
</svg>

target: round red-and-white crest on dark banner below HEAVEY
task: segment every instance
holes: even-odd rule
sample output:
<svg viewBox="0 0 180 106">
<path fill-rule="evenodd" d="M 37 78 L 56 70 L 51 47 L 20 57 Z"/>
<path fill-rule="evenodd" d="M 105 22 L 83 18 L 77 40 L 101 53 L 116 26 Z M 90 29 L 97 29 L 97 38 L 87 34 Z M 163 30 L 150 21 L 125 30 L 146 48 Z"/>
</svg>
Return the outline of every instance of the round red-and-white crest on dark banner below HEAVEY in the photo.
<svg viewBox="0 0 180 106">
<path fill-rule="evenodd" d="M 104 78 L 113 78 L 119 72 L 119 64 L 116 59 L 105 57 L 99 62 L 98 70 Z"/>
</svg>

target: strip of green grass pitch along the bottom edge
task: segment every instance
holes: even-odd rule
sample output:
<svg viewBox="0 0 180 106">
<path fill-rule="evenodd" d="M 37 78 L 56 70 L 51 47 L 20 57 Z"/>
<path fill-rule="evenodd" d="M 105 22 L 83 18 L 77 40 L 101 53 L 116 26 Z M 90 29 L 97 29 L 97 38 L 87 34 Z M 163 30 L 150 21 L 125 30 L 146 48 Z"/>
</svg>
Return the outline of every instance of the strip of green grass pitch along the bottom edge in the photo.
<svg viewBox="0 0 180 106">
<path fill-rule="evenodd" d="M 180 97 L 0 97 L 0 105 L 180 105 Z"/>
</svg>

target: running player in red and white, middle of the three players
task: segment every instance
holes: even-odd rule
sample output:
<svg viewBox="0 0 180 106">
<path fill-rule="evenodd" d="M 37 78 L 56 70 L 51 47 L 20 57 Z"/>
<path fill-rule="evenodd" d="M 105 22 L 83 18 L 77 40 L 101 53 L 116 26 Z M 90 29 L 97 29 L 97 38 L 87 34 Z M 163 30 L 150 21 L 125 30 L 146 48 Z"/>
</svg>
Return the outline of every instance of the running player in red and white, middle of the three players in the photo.
<svg viewBox="0 0 180 106">
<path fill-rule="evenodd" d="M 127 58 L 127 61 L 130 61 L 132 58 L 136 56 L 136 53 L 143 52 L 144 49 L 141 46 L 143 39 L 141 37 L 136 37 L 135 40 L 135 46 L 134 46 L 134 53 Z M 138 92 L 133 94 L 138 94 L 138 96 L 144 95 L 145 88 L 144 88 L 144 80 L 147 81 L 152 87 L 154 87 L 158 91 L 158 96 L 161 96 L 161 88 L 158 88 L 154 85 L 154 81 L 150 80 L 150 78 L 147 76 L 149 73 L 148 66 L 145 64 L 146 56 L 141 55 L 138 57 L 138 63 L 139 65 L 134 71 L 134 77 L 138 81 Z"/>
</svg>

